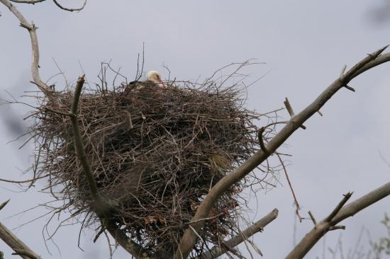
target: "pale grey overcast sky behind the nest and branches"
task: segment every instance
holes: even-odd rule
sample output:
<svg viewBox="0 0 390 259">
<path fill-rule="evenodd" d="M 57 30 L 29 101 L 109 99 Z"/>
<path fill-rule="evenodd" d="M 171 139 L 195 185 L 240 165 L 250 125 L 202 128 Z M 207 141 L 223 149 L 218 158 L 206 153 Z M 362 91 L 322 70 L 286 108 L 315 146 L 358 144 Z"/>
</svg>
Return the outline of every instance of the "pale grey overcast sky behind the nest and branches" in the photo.
<svg viewBox="0 0 390 259">
<path fill-rule="evenodd" d="M 62 1 L 65 2 L 65 1 Z M 69 1 L 77 5 L 79 1 Z M 287 96 L 294 110 L 308 105 L 318 93 L 365 54 L 390 44 L 390 23 L 374 19 L 372 12 L 385 1 L 103 1 L 89 0 L 82 12 L 69 13 L 47 1 L 35 6 L 18 5 L 28 21 L 38 25 L 40 73 L 48 79 L 58 70 L 74 80 L 84 72 L 91 82 L 98 81 L 100 62 L 122 67 L 130 79 L 135 76 L 137 55 L 145 42 L 145 69 L 162 71 L 167 65 L 172 77 L 197 79 L 231 62 L 257 58 L 267 64 L 247 69 L 252 79 L 263 76 L 248 90 L 247 108 L 260 113 L 281 108 Z M 69 4 L 70 6 L 70 4 Z M 8 9 L 0 6 L 0 95 L 6 91 L 19 96 L 35 89 L 30 81 L 30 43 L 28 33 Z M 387 12 L 384 13 L 386 17 Z M 383 21 L 383 23 L 376 23 Z M 80 65 L 84 72 L 80 68 Z M 267 73 L 269 72 L 269 73 Z M 54 79 L 57 85 L 62 78 Z M 352 81 L 356 93 L 341 90 L 288 140 L 284 152 L 289 159 L 289 174 L 302 214 L 311 210 L 317 219 L 325 217 L 347 191 L 351 200 L 390 180 L 390 168 L 379 152 L 390 161 L 390 64 L 372 69 Z M 2 108 L 0 115 L 0 178 L 25 179 L 21 169 L 30 166 L 32 146 L 18 150 L 19 143 L 7 144 L 23 126 L 26 108 Z M 287 117 L 286 113 L 282 113 Z M 21 125 L 10 125 L 16 118 Z M 279 217 L 255 243 L 264 258 L 283 258 L 294 245 L 294 207 L 284 176 L 280 185 L 267 193 L 259 192 L 257 219 L 279 209 Z M 14 185 L 0 183 L 1 201 L 11 202 L 1 210 L 0 221 L 14 228 L 45 209 L 35 209 L 7 219 L 9 215 L 38 205 L 49 197 L 37 185 L 27 193 Z M 387 198 L 365 209 L 343 224 L 345 231 L 327 234 L 307 255 L 323 255 L 323 248 L 334 247 L 342 233 L 343 249 L 354 248 L 360 229 L 369 229 L 372 238 L 386 234 L 379 221 L 390 213 Z M 16 234 L 43 258 L 108 258 L 104 238 L 92 243 L 92 231 L 82 233 L 77 248 L 79 226 L 62 228 L 55 236 L 57 248 L 43 242 L 43 225 L 48 217 L 15 229 Z M 255 219 L 253 219 L 255 220 Z M 296 224 L 296 241 L 313 227 L 311 221 Z M 367 240 L 365 241 L 367 243 Z M 366 246 L 367 247 L 367 246 Z M 0 250 L 11 258 L 10 250 Z M 125 258 L 120 249 L 114 258 Z M 327 253 L 326 258 L 331 258 Z"/>
</svg>

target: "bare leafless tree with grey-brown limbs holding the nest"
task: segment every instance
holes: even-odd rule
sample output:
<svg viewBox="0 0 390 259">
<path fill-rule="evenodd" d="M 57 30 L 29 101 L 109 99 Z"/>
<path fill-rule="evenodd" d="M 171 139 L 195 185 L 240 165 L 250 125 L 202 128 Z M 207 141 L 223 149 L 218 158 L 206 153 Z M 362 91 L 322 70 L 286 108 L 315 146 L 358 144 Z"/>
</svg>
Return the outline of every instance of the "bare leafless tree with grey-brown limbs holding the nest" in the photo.
<svg viewBox="0 0 390 259">
<path fill-rule="evenodd" d="M 35 33 L 37 28 L 33 23 L 28 23 L 26 18 L 24 18 L 23 15 L 18 11 L 16 6 L 11 3 L 38 4 L 43 1 L 45 0 L 0 0 L 1 4 L 9 8 L 11 13 L 13 13 L 13 15 L 18 18 L 21 23 L 21 27 L 28 30 L 33 51 L 33 62 L 31 65 L 31 74 L 33 77 L 32 82 L 38 86 L 40 91 L 42 91 L 45 96 L 50 98 L 52 93 L 55 91 L 40 79 L 40 74 L 38 71 L 39 48 L 37 35 Z M 52 1 L 56 6 L 62 8 L 65 11 L 80 11 L 86 5 L 86 1 L 84 1 L 80 8 L 65 8 L 59 4 L 57 0 Z M 196 239 L 199 237 L 197 234 L 198 231 L 205 224 L 205 221 L 208 219 L 213 205 L 216 204 L 217 200 L 223 195 L 223 193 L 235 185 L 235 183 L 238 183 L 238 181 L 243 179 L 250 172 L 252 172 L 255 168 L 257 168 L 257 166 L 260 166 L 260 164 L 266 161 L 269 156 L 276 155 L 277 149 L 279 149 L 279 147 L 282 146 L 284 142 L 286 142 L 291 134 L 296 132 L 298 129 L 305 129 L 306 127 L 303 125 L 303 123 L 316 113 L 320 113 L 320 109 L 323 107 L 323 105 L 325 105 L 325 103 L 328 102 L 328 100 L 330 100 L 330 98 L 335 95 L 335 93 L 343 90 L 355 91 L 355 89 L 349 85 L 352 79 L 355 79 L 355 77 L 368 71 L 369 69 L 377 67 L 385 62 L 389 62 L 390 53 L 384 53 L 385 49 L 386 47 L 383 47 L 380 50 L 368 54 L 367 57 L 364 57 L 364 59 L 362 59 L 360 62 L 357 62 L 357 64 L 353 65 L 350 69 L 347 69 L 347 66 L 343 67 L 340 76 L 338 76 L 333 81 L 333 83 L 330 84 L 330 86 L 325 88 L 325 90 L 320 93 L 311 104 L 309 104 L 305 109 L 297 114 L 294 113 L 289 100 L 286 98 L 284 104 L 286 105 L 286 109 L 289 111 L 291 116 L 289 121 L 287 121 L 284 127 L 282 127 L 282 129 L 267 142 L 264 141 L 262 136 L 266 128 L 263 127 L 260 129 L 259 142 L 261 150 L 257 151 L 241 166 L 235 168 L 235 170 L 225 175 L 225 177 L 219 180 L 218 183 L 213 185 L 199 207 L 197 207 L 196 214 L 189 222 L 188 227 L 184 232 L 184 235 L 182 236 L 177 251 L 174 253 L 174 255 L 164 251 L 160 251 L 153 255 L 147 254 L 142 247 L 133 242 L 131 238 L 126 236 L 126 234 L 121 231 L 121 229 L 118 229 L 115 222 L 110 220 L 111 212 L 108 208 L 108 205 L 106 205 L 106 203 L 102 200 L 97 190 L 96 181 L 92 173 L 89 159 L 85 154 L 83 139 L 79 131 L 79 125 L 77 124 L 77 110 L 79 105 L 79 98 L 82 93 L 82 87 L 84 84 L 84 76 L 80 76 L 79 80 L 77 81 L 71 110 L 61 110 L 55 112 L 69 116 L 72 120 L 74 147 L 77 151 L 79 161 L 82 163 L 85 176 L 88 180 L 94 205 L 96 207 L 97 217 L 99 217 L 99 219 L 104 222 L 104 226 L 111 234 L 111 236 L 113 236 L 116 242 L 135 258 L 188 258 L 189 254 L 194 248 Z M 308 212 L 313 221 L 314 227 L 310 232 L 308 232 L 308 234 L 306 234 L 306 236 L 291 251 L 291 253 L 286 256 L 286 258 L 303 258 L 303 256 L 306 255 L 306 253 L 308 253 L 311 248 L 313 248 L 314 244 L 316 244 L 316 242 L 320 240 L 320 238 L 323 237 L 328 231 L 344 229 L 345 226 L 339 225 L 341 221 L 347 219 L 348 217 L 352 217 L 357 212 L 360 212 L 362 209 L 369 207 L 370 205 L 384 197 L 387 197 L 388 195 L 390 195 L 390 183 L 385 183 L 376 190 L 372 190 L 372 192 L 369 192 L 366 195 L 363 195 L 355 201 L 347 204 L 347 201 L 352 196 L 352 192 L 348 192 L 344 195 L 340 203 L 336 205 L 335 208 L 328 214 L 328 216 L 321 221 L 316 221 L 313 213 Z M 5 205 L 6 202 L 0 206 L 0 209 Z M 223 255 L 224 253 L 234 253 L 235 246 L 238 246 L 238 244 L 242 243 L 243 241 L 247 241 L 250 236 L 262 230 L 264 226 L 267 226 L 267 224 L 269 224 L 277 217 L 277 214 L 278 210 L 274 209 L 264 218 L 260 219 L 260 221 L 252 224 L 252 226 L 249 226 L 244 231 L 241 231 L 240 235 L 234 236 L 230 240 L 225 241 L 225 243 L 221 243 L 219 246 L 206 251 L 203 255 L 201 255 L 201 258 L 218 258 L 218 256 Z M 13 249 L 13 251 L 15 251 L 16 255 L 20 255 L 22 258 L 40 258 L 39 255 L 28 248 L 26 244 L 20 241 L 14 234 L 11 233 L 11 231 L 9 231 L 9 229 L 6 229 L 6 227 L 2 224 L 0 224 L 0 238 L 3 239 Z"/>
</svg>

